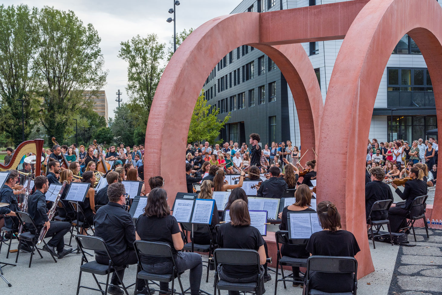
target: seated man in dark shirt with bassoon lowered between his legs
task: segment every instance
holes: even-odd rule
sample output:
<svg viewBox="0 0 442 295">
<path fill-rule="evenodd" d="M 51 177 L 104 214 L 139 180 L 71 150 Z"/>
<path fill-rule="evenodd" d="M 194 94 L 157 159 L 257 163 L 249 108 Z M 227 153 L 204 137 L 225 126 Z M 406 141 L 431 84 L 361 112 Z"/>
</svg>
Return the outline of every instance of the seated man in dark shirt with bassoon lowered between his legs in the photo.
<svg viewBox="0 0 442 295">
<path fill-rule="evenodd" d="M 61 259 L 72 252 L 72 248 L 65 249 L 64 241 L 65 234 L 71 229 L 71 223 L 66 221 L 50 221 L 48 219 L 45 197 L 49 188 L 48 179 L 45 176 L 37 176 L 34 180 L 34 185 L 35 193 L 29 197 L 28 213 L 37 226 L 35 230 L 37 234 L 40 233 L 45 225 L 48 229 L 48 235 L 55 234 L 47 242 L 47 246 L 43 246 L 43 250 L 51 252 L 53 256 Z M 57 247 L 57 252 L 55 252 L 55 247 Z"/>
</svg>

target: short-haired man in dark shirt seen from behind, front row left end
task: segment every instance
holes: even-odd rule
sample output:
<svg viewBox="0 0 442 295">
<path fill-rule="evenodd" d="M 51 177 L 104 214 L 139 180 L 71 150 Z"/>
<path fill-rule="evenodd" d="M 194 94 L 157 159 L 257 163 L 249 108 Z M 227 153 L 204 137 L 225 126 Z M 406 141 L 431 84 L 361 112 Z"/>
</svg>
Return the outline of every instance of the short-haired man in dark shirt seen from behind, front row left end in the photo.
<svg viewBox="0 0 442 295">
<path fill-rule="evenodd" d="M 126 203 L 126 190 L 122 183 L 112 183 L 107 187 L 109 202 L 97 210 L 94 218 L 95 237 L 102 238 L 109 249 L 109 254 L 116 266 L 137 264 L 138 259 L 133 249 L 135 241 L 135 225 L 129 212 L 124 210 Z M 99 264 L 109 264 L 106 252 L 96 251 L 95 261 Z M 124 269 L 118 271 L 118 276 L 123 279 Z M 117 273 L 112 274 L 110 283 L 118 286 L 120 280 Z M 109 294 L 123 295 L 119 287 L 110 286 Z M 147 294 L 144 280 L 138 280 L 137 294 Z"/>
</svg>

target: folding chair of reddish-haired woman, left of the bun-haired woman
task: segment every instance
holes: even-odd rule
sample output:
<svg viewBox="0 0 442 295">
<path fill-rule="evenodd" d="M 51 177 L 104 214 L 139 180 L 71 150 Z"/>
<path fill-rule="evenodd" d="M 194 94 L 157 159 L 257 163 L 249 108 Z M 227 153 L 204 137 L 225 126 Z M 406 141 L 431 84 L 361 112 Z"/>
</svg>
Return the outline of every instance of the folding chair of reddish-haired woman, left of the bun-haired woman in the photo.
<svg viewBox="0 0 442 295">
<path fill-rule="evenodd" d="M 307 267 L 307 258 L 293 258 L 290 256 L 281 256 L 279 244 L 282 244 L 282 245 L 307 245 L 307 243 L 309 242 L 309 239 L 290 240 L 288 231 L 278 230 L 275 233 L 275 240 L 276 240 L 276 246 L 278 248 L 278 251 L 276 254 L 276 276 L 275 276 L 275 295 L 276 295 L 276 290 L 278 288 L 278 282 L 283 282 L 284 289 L 286 289 L 286 282 L 304 283 L 304 279 L 299 279 L 299 278 L 293 277 L 293 273 L 291 275 L 285 276 L 284 269 L 282 268 L 282 266 L 301 267 L 301 268 Z M 278 266 L 281 266 L 282 279 L 278 279 Z M 290 278 L 290 279 L 286 279 L 286 278 Z"/>
</svg>

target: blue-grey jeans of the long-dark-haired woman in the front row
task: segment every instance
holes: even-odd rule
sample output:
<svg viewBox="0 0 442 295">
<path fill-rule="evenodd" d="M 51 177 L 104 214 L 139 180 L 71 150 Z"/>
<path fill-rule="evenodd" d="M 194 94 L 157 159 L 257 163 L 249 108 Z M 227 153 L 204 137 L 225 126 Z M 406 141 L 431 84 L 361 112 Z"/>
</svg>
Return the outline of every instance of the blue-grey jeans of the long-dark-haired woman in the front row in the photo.
<svg viewBox="0 0 442 295">
<path fill-rule="evenodd" d="M 175 264 L 178 272 L 184 272 L 190 269 L 189 283 L 191 285 L 191 295 L 199 294 L 199 287 L 202 276 L 202 258 L 198 253 L 178 252 L 175 256 Z M 156 274 L 170 274 L 172 273 L 172 261 L 160 262 L 156 264 L 142 264 L 146 272 Z M 161 293 L 167 292 L 169 283 L 160 282 Z"/>
</svg>

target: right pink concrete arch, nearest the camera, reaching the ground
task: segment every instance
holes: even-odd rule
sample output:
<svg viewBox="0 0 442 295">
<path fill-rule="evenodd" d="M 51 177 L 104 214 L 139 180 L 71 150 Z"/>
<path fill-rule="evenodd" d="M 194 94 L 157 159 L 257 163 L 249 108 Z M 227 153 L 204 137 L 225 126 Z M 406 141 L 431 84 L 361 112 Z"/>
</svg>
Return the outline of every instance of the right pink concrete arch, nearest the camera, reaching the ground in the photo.
<svg viewBox="0 0 442 295">
<path fill-rule="evenodd" d="M 381 76 L 392 50 L 408 33 L 427 62 L 438 124 L 442 124 L 441 23 L 442 9 L 434 0 L 371 0 L 354 19 L 335 62 L 320 126 L 317 190 L 321 199 L 338 206 L 343 226 L 358 240 L 362 249 L 357 255 L 358 277 L 374 270 L 363 214 L 365 154 L 361 151 L 366 150 Z M 328 156 L 330 142 L 343 147 L 334 157 Z M 342 166 L 336 169 L 335 163 Z M 439 213 L 440 197 L 438 190 L 434 206 Z"/>
</svg>

